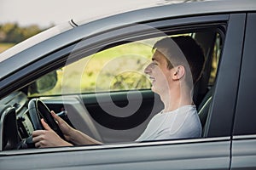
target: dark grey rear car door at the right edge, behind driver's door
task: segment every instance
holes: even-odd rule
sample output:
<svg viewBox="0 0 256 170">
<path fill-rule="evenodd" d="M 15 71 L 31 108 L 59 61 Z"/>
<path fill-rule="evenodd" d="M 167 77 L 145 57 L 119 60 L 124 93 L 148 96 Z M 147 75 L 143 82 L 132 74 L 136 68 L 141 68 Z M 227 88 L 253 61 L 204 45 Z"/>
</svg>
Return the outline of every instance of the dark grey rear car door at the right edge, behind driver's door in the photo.
<svg viewBox="0 0 256 170">
<path fill-rule="evenodd" d="M 236 119 L 232 141 L 232 169 L 256 168 L 256 115 L 255 115 L 255 20 L 256 14 L 247 14 L 245 43 L 242 56 L 241 78 L 236 105 Z"/>
</svg>

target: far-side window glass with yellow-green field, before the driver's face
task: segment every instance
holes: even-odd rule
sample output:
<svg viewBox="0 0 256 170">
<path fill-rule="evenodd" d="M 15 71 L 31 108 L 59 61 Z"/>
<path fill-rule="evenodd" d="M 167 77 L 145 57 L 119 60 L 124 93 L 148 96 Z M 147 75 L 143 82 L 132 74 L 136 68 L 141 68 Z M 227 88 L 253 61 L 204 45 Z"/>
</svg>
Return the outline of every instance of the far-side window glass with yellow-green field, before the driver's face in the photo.
<svg viewBox="0 0 256 170">
<path fill-rule="evenodd" d="M 65 76 L 73 78 L 68 82 L 80 80 L 80 87 L 75 89 L 81 93 L 150 88 L 143 69 L 151 55 L 148 44 L 131 42 L 93 54 L 63 70 Z M 68 82 L 66 86 L 72 84 Z"/>
</svg>

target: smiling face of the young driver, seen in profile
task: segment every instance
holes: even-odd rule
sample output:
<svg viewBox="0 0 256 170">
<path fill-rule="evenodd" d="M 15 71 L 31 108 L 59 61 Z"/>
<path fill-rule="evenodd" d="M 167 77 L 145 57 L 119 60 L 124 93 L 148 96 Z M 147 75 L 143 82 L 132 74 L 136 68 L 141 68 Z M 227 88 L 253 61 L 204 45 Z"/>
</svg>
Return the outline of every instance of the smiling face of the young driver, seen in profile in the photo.
<svg viewBox="0 0 256 170">
<path fill-rule="evenodd" d="M 158 50 L 154 52 L 151 63 L 144 71 L 152 82 L 152 91 L 157 94 L 168 92 L 172 86 L 172 69 L 167 68 L 167 61 Z"/>
</svg>

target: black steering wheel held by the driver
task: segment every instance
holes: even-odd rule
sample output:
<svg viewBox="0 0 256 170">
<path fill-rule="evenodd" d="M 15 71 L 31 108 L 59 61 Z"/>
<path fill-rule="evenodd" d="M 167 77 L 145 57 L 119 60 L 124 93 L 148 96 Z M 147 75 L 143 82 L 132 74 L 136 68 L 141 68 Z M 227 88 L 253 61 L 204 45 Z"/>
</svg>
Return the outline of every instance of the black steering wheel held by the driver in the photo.
<svg viewBox="0 0 256 170">
<path fill-rule="evenodd" d="M 51 116 L 49 108 L 44 104 L 41 99 L 31 99 L 28 103 L 28 111 L 29 116 L 32 120 L 32 125 L 35 130 L 44 129 L 41 123 L 41 119 L 43 118 L 44 122 L 46 122 L 49 127 L 51 127 L 55 131 L 55 133 L 57 133 L 62 139 L 65 139 L 60 127 L 55 122 L 54 117 Z"/>
</svg>

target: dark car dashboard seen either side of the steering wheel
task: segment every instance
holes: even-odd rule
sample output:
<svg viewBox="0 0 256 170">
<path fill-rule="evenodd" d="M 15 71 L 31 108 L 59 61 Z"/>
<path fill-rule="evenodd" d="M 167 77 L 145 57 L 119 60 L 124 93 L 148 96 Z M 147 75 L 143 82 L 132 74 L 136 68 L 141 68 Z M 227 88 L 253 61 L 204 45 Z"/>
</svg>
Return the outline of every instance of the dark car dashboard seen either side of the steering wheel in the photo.
<svg viewBox="0 0 256 170">
<path fill-rule="evenodd" d="M 9 94 L 0 100 L 0 148 L 2 150 L 17 150 L 33 148 L 32 132 L 34 127 L 28 110 L 30 99 L 26 94 L 17 91 Z M 67 117 L 67 112 L 63 110 L 63 104 L 60 101 L 59 107 L 55 104 L 49 104 L 55 108 L 56 114 L 66 121 L 70 126 L 73 124 Z"/>
</svg>

